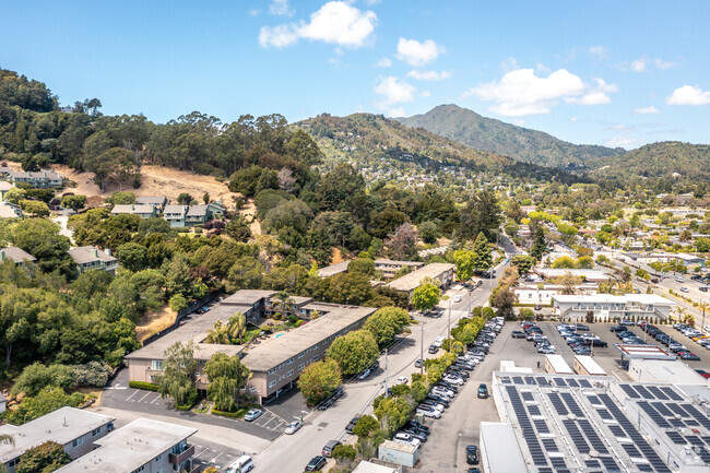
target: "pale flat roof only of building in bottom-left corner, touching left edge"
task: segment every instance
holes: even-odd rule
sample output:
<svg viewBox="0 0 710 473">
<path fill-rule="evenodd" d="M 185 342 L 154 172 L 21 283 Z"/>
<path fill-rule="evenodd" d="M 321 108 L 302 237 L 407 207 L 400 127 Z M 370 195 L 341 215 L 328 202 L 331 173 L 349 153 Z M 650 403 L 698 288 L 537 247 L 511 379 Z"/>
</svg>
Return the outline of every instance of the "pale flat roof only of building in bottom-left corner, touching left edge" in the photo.
<svg viewBox="0 0 710 473">
<path fill-rule="evenodd" d="M 64 446 L 114 421 L 116 417 L 108 415 L 74 407 L 61 407 L 20 426 L 4 424 L 0 426 L 0 434 L 11 435 L 14 445 L 0 444 L 0 461 L 7 463 L 27 449 L 48 440 Z"/>
</svg>

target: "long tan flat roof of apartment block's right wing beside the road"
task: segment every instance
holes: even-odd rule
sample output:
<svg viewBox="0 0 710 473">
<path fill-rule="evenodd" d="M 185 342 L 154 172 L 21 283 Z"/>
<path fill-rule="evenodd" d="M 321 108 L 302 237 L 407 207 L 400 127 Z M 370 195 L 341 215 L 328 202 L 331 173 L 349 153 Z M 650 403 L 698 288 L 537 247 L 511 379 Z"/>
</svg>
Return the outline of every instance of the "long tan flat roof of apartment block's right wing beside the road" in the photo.
<svg viewBox="0 0 710 473">
<path fill-rule="evenodd" d="M 305 308 L 309 309 L 311 306 L 307 305 Z M 296 330 L 255 346 L 246 352 L 241 362 L 252 371 L 267 371 L 298 355 L 307 347 L 321 343 L 351 323 L 369 317 L 376 310 L 371 307 L 340 306 Z"/>
</svg>

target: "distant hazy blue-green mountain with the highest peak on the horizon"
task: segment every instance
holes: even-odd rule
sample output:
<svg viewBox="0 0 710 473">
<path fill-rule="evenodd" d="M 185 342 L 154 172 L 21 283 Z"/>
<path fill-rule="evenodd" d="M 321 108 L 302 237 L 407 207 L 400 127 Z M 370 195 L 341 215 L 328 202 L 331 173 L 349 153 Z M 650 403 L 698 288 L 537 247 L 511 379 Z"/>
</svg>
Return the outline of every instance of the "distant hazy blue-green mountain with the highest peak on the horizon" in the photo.
<svg viewBox="0 0 710 473">
<path fill-rule="evenodd" d="M 620 147 L 568 143 L 545 132 L 482 117 L 455 105 L 440 105 L 424 115 L 397 120 L 407 127 L 423 128 L 476 150 L 542 166 L 583 165 L 591 158 L 625 153 Z"/>
</svg>

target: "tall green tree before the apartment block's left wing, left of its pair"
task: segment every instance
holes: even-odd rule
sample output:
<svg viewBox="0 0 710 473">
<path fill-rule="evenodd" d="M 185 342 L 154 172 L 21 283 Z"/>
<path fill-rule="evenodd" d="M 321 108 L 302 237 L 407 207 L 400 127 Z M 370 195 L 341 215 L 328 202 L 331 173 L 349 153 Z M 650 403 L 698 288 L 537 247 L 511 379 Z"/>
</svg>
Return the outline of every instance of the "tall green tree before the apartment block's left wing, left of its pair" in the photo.
<svg viewBox="0 0 710 473">
<path fill-rule="evenodd" d="M 176 406 L 192 405 L 198 398 L 194 387 L 194 342 L 176 342 L 165 350 L 163 374 L 158 377 L 158 391 L 163 398 L 169 395 Z"/>
</svg>

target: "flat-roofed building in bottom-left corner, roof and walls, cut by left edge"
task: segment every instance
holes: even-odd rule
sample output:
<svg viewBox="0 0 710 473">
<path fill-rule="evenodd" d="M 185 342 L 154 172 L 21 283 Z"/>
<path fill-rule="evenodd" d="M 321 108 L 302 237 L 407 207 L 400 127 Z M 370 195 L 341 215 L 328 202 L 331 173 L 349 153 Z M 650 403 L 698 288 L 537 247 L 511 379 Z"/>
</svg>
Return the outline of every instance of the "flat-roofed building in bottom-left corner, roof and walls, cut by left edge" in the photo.
<svg viewBox="0 0 710 473">
<path fill-rule="evenodd" d="M 60 407 L 26 424 L 0 426 L 0 435 L 12 436 L 12 444 L 0 444 L 0 463 L 14 473 L 20 457 L 46 441 L 54 441 L 64 448 L 73 460 L 88 453 L 93 444 L 105 437 L 113 428 L 115 417 L 82 411 L 74 407 Z"/>
</svg>

